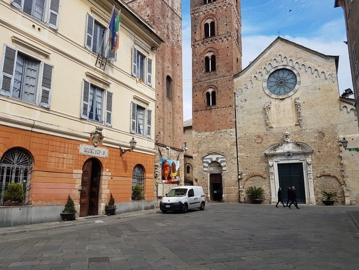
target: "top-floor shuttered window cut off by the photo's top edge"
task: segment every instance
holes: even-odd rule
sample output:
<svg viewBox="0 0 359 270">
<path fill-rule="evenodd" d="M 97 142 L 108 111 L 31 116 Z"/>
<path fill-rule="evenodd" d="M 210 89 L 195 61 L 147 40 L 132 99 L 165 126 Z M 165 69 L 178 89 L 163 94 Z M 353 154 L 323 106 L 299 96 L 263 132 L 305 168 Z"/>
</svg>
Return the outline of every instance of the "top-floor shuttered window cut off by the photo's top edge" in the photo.
<svg viewBox="0 0 359 270">
<path fill-rule="evenodd" d="M 11 0 L 11 4 L 51 28 L 58 28 L 60 0 Z"/>
</svg>

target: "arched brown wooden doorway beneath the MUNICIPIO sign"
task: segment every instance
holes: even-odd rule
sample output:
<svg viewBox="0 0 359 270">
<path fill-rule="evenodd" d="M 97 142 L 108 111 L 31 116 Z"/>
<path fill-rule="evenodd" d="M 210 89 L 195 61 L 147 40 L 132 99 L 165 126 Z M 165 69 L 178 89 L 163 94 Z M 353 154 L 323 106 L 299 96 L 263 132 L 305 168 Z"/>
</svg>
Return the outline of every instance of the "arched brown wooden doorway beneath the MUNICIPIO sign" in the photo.
<svg viewBox="0 0 359 270">
<path fill-rule="evenodd" d="M 98 215 L 101 165 L 95 158 L 86 160 L 82 167 L 80 217 Z"/>
</svg>

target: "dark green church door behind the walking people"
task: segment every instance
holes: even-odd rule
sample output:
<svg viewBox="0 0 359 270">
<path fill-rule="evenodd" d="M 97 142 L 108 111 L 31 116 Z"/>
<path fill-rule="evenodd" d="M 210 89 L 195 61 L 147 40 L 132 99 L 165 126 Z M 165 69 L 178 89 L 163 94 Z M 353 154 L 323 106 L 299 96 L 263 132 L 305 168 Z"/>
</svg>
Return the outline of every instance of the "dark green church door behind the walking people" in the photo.
<svg viewBox="0 0 359 270">
<path fill-rule="evenodd" d="M 283 201 L 288 199 L 289 186 L 296 187 L 297 202 L 305 203 L 303 163 L 278 164 L 279 186 L 282 188 Z"/>
</svg>

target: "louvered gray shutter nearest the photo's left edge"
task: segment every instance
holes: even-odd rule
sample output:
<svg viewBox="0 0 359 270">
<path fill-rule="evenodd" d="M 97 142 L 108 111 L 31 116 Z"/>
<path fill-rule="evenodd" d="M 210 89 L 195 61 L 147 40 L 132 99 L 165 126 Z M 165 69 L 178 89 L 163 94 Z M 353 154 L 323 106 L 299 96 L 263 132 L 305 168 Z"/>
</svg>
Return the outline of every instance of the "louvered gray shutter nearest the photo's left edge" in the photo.
<svg viewBox="0 0 359 270">
<path fill-rule="evenodd" d="M 0 94 L 5 96 L 12 95 L 16 56 L 16 49 L 6 45 L 4 46 L 3 68 L 2 74 L 0 75 Z"/>
</svg>

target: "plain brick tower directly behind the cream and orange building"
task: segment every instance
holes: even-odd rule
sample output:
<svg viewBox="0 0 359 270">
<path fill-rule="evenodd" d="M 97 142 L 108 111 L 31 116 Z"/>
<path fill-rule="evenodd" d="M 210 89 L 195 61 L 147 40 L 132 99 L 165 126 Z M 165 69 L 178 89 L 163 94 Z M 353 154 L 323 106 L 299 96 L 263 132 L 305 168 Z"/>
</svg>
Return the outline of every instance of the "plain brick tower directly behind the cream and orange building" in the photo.
<svg viewBox="0 0 359 270">
<path fill-rule="evenodd" d="M 182 6 L 181 0 L 124 0 L 153 27 L 164 43 L 156 49 L 155 67 L 155 160 L 154 199 L 177 183 L 165 183 L 163 194 L 161 159 L 180 162 L 180 184 L 184 183 L 183 90 L 182 90 Z"/>
</svg>

